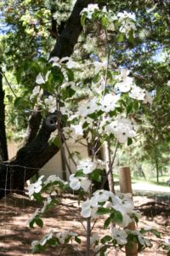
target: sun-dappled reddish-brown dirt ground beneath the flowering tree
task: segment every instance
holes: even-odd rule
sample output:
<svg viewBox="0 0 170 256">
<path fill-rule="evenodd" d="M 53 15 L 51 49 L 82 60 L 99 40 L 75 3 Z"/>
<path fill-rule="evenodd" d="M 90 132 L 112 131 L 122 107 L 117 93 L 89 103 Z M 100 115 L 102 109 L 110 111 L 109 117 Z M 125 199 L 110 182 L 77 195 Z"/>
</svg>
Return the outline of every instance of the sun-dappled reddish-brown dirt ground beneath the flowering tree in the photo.
<svg viewBox="0 0 170 256">
<path fill-rule="evenodd" d="M 146 196 L 134 196 L 133 198 L 135 207 L 139 207 L 147 202 L 153 201 L 152 198 L 147 198 Z M 37 208 L 37 202 L 30 201 L 26 195 L 8 195 L 6 199 L 0 201 L 0 256 L 32 256 L 31 253 L 31 241 L 39 240 L 42 235 L 47 233 L 49 230 L 53 229 L 56 232 L 60 230 L 74 230 L 77 232 L 83 241 L 85 242 L 84 230 L 81 222 L 78 219 L 78 206 L 73 195 L 65 195 L 59 207 L 55 207 L 50 210 L 46 216 L 44 216 L 44 227 L 43 229 L 36 227 L 35 229 L 30 229 L 26 222 L 31 214 L 35 212 Z M 169 201 L 168 201 L 169 203 Z M 66 207 L 64 205 L 67 205 Z M 155 206 L 156 207 L 156 206 Z M 153 207 L 152 207 L 153 208 Z M 149 210 L 150 212 L 150 210 Z M 151 217 L 143 216 L 141 218 L 139 226 L 152 226 L 155 227 L 162 233 L 162 238 L 158 239 L 152 235 L 149 235 L 150 241 L 153 242 L 153 247 L 145 250 L 143 253 L 139 253 L 140 256 L 155 256 L 155 255 L 167 255 L 165 251 L 159 247 L 161 241 L 165 238 L 170 238 L 170 222 L 168 214 L 165 215 L 162 212 L 158 212 L 158 215 L 151 214 Z M 156 215 L 155 217 L 153 215 Z M 94 232 L 99 232 L 100 235 L 106 234 L 106 230 L 102 229 L 103 219 L 99 219 Z M 62 254 L 59 254 L 59 248 L 49 248 L 45 253 L 36 254 L 37 256 L 76 256 L 80 255 L 77 250 L 84 252 L 84 247 L 75 246 L 75 251 L 67 250 Z M 93 254 L 93 253 L 92 253 Z M 125 253 L 121 251 L 111 251 L 107 254 L 110 256 L 122 256 Z"/>
</svg>

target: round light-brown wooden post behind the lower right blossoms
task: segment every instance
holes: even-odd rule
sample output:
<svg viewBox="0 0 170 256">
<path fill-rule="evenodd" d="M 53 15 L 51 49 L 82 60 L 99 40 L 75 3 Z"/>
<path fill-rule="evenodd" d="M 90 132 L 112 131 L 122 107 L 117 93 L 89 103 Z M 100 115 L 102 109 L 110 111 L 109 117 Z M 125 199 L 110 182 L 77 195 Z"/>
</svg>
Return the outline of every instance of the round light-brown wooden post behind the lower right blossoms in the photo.
<svg viewBox="0 0 170 256">
<path fill-rule="evenodd" d="M 119 167 L 119 183 L 120 190 L 122 193 L 131 193 L 133 195 L 132 183 L 131 183 L 131 173 L 128 166 Z M 135 230 L 135 223 L 132 222 L 127 226 L 128 230 Z M 132 247 L 126 247 L 126 256 L 137 256 L 138 248 L 137 244 L 133 243 Z"/>
</svg>

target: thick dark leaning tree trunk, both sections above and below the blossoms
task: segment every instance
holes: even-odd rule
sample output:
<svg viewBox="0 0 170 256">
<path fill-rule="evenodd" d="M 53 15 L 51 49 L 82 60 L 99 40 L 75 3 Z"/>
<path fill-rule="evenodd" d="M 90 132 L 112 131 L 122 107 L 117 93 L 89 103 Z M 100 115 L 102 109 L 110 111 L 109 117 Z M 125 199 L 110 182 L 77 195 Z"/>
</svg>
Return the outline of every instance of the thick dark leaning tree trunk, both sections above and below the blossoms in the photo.
<svg viewBox="0 0 170 256">
<path fill-rule="evenodd" d="M 71 16 L 59 35 L 59 39 L 50 57 L 59 56 L 59 58 L 61 58 L 72 54 L 74 46 L 77 44 L 77 39 L 82 32 L 80 13 L 83 8 L 88 6 L 88 3 L 94 2 L 94 0 L 77 0 Z M 48 119 L 49 118 L 50 117 L 48 117 Z M 52 116 L 52 119 L 53 118 Z M 35 128 L 35 125 L 33 125 L 33 127 Z M 47 124 L 47 120 L 44 119 L 37 136 L 37 131 L 33 134 L 29 131 L 30 136 L 28 136 L 25 146 L 20 148 L 14 160 L 8 162 L 8 166 L 0 166 L 0 198 L 3 198 L 4 195 L 7 195 L 15 189 L 22 190 L 26 180 L 34 176 L 38 170 L 59 151 L 59 148 L 54 145 L 48 145 L 48 139 L 54 129 L 56 129 L 56 127 L 51 127 Z M 26 166 L 26 168 L 22 166 Z"/>
</svg>

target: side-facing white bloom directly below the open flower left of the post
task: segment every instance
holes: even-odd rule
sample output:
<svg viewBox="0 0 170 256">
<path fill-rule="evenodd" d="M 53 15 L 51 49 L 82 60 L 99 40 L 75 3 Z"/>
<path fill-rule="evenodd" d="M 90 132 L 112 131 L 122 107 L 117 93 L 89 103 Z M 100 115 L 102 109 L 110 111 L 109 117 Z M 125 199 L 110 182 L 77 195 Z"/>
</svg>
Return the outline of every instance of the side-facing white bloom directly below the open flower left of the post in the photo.
<svg viewBox="0 0 170 256">
<path fill-rule="evenodd" d="M 91 181 L 88 177 L 75 177 L 75 174 L 71 174 L 70 179 L 70 187 L 73 190 L 78 190 L 82 188 L 84 191 L 88 191 L 89 186 L 91 185 Z"/>
</svg>

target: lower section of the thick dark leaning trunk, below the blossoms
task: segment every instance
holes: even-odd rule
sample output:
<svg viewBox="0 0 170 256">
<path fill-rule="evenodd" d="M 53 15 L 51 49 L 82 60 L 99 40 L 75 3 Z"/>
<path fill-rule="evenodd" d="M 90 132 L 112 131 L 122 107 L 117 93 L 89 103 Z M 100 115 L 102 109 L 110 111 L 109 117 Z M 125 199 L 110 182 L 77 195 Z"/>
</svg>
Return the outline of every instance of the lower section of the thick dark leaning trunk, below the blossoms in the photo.
<svg viewBox="0 0 170 256">
<path fill-rule="evenodd" d="M 37 137 L 20 148 L 16 157 L 8 162 L 8 166 L 1 166 L 0 198 L 14 190 L 23 190 L 26 180 L 33 177 L 59 151 L 54 145 L 48 145 L 50 134 L 55 129 L 55 125 L 49 125 L 44 119 Z"/>
</svg>

